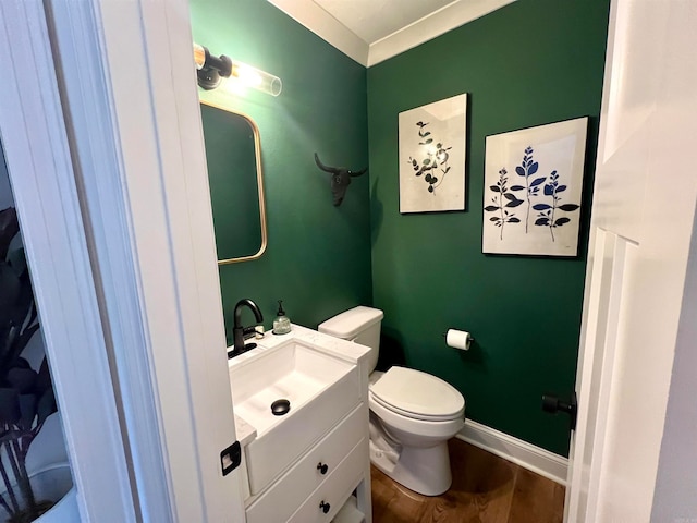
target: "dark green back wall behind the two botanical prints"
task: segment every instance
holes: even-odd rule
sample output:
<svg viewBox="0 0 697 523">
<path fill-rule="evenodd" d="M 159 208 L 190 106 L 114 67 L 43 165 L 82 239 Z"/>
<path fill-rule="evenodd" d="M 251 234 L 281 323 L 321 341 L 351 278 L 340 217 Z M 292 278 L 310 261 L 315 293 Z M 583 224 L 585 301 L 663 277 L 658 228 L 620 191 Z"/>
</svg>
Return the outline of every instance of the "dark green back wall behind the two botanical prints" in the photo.
<svg viewBox="0 0 697 523">
<path fill-rule="evenodd" d="M 609 0 L 518 0 L 368 70 L 372 295 L 381 365 L 405 362 L 465 396 L 466 416 L 567 454 Z M 465 212 L 400 215 L 398 114 L 468 93 Z M 575 259 L 481 253 L 485 137 L 590 117 Z M 521 307 L 523 301 L 526 305 Z M 448 328 L 476 338 L 445 346 Z"/>
</svg>

